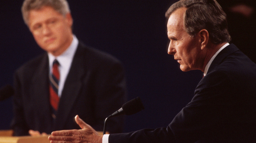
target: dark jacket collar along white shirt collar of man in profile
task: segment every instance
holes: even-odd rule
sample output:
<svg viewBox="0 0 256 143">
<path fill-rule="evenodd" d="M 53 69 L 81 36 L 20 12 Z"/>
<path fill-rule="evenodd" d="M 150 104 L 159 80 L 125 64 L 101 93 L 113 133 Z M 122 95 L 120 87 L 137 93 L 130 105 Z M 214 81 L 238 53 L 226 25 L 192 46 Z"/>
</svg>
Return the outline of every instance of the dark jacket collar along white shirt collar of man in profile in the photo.
<svg viewBox="0 0 256 143">
<path fill-rule="evenodd" d="M 229 44 L 228 46 L 226 46 L 216 57 L 215 59 L 212 61 L 209 69 L 208 69 L 208 73 L 211 72 L 216 66 L 218 66 L 226 56 L 239 51 L 239 49 L 234 45 L 234 44 Z"/>
</svg>

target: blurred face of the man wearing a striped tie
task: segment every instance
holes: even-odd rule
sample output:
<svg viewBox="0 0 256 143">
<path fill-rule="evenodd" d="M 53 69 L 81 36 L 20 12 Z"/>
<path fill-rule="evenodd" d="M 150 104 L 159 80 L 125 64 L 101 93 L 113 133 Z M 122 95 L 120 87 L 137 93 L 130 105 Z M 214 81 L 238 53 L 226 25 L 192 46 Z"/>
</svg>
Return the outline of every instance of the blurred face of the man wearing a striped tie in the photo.
<svg viewBox="0 0 256 143">
<path fill-rule="evenodd" d="M 64 17 L 52 7 L 42 7 L 29 12 L 29 29 L 37 44 L 54 56 L 61 55 L 73 40 L 73 20 L 68 13 Z"/>
</svg>

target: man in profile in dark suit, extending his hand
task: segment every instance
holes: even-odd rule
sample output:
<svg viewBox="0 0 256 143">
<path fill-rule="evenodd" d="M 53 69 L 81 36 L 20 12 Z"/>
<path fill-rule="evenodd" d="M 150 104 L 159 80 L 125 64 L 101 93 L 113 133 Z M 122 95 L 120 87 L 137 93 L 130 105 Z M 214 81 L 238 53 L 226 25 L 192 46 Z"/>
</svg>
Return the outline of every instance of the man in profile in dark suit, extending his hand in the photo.
<svg viewBox="0 0 256 143">
<path fill-rule="evenodd" d="M 256 64 L 229 44 L 226 15 L 215 0 L 181 0 L 166 12 L 168 54 L 182 71 L 201 70 L 194 98 L 167 127 L 97 135 L 75 117 L 81 130 L 55 131 L 51 143 L 255 142 Z M 106 140 L 105 140 L 106 139 Z"/>
</svg>

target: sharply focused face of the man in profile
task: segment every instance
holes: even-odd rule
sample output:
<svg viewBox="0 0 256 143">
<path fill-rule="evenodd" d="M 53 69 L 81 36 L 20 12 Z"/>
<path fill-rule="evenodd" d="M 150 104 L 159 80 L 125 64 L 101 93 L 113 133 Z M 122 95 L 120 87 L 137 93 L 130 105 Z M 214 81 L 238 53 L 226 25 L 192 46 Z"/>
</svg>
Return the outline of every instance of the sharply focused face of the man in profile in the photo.
<svg viewBox="0 0 256 143">
<path fill-rule="evenodd" d="M 169 17 L 167 35 L 170 40 L 168 54 L 180 63 L 181 71 L 202 70 L 200 65 L 201 47 L 197 38 L 192 38 L 184 30 L 184 13 L 186 8 L 178 8 Z"/>
</svg>

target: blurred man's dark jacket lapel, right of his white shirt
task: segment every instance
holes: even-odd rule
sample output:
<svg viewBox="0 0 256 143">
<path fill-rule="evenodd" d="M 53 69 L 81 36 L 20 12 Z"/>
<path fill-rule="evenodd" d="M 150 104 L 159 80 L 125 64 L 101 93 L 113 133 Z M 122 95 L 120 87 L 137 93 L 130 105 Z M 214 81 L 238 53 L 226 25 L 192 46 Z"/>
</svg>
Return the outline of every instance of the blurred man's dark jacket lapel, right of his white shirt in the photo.
<svg viewBox="0 0 256 143">
<path fill-rule="evenodd" d="M 66 78 L 64 88 L 62 90 L 58 112 L 56 115 L 55 129 L 61 130 L 70 114 L 72 107 L 75 106 L 75 100 L 79 95 L 80 89 L 82 87 L 82 77 L 85 74 L 83 68 L 83 54 L 81 54 L 81 45 L 79 43 L 75 56 L 73 58 L 70 71 Z"/>
</svg>

